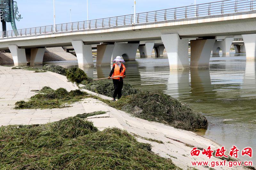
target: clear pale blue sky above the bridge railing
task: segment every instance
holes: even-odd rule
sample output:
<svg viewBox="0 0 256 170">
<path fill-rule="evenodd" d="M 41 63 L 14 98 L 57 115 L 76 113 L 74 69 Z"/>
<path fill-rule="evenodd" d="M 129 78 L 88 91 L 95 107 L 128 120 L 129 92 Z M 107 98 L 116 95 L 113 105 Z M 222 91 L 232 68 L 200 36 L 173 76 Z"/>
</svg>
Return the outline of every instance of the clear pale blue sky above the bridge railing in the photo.
<svg viewBox="0 0 256 170">
<path fill-rule="evenodd" d="M 16 0 L 22 19 L 17 29 L 53 25 L 53 0 Z M 196 0 L 196 4 L 218 0 Z M 127 15 L 133 12 L 133 0 L 88 0 L 90 19 Z M 194 0 L 136 0 L 136 13 L 194 4 Z M 55 0 L 56 24 L 87 20 L 86 0 Z M 11 24 L 8 23 L 9 30 Z"/>
</svg>

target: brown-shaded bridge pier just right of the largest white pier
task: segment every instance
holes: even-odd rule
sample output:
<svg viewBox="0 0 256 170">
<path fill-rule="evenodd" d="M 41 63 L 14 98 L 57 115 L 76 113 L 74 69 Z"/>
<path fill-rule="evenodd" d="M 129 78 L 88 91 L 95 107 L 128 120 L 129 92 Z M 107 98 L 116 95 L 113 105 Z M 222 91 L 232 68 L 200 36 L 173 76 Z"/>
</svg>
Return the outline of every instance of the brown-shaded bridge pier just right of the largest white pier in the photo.
<svg viewBox="0 0 256 170">
<path fill-rule="evenodd" d="M 190 68 L 209 67 L 215 39 L 191 40 Z"/>
</svg>

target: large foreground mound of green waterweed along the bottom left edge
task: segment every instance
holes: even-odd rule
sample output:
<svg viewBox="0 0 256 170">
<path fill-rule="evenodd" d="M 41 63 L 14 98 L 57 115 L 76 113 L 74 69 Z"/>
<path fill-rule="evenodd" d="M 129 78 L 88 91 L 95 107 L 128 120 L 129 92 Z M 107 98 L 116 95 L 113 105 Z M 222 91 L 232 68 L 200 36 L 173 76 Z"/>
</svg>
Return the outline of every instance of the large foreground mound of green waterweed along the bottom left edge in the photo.
<svg viewBox="0 0 256 170">
<path fill-rule="evenodd" d="M 127 131 L 69 117 L 0 127 L 0 169 L 179 169 Z"/>
</svg>

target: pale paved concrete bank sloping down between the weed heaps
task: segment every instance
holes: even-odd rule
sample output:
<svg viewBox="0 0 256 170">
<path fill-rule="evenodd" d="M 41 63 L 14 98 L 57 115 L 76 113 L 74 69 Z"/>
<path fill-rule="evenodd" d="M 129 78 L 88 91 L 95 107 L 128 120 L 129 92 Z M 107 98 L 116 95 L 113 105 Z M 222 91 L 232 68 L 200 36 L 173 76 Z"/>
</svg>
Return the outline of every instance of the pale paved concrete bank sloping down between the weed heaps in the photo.
<svg viewBox="0 0 256 170">
<path fill-rule="evenodd" d="M 61 109 L 13 109 L 16 101 L 28 100 L 31 96 L 36 94 L 35 92 L 31 92 L 31 90 L 39 90 L 43 86 L 49 86 L 53 89 L 63 87 L 68 91 L 78 89 L 76 85 L 68 82 L 65 76 L 56 73 L 35 73 L 34 71 L 11 70 L 10 67 L 0 66 L 0 126 L 9 124 L 47 123 L 77 114 L 106 111 L 106 114 L 88 117 L 88 120 L 92 121 L 100 130 L 107 127 L 118 127 L 127 130 L 134 134 L 139 142 L 152 144 L 153 152 L 162 157 L 171 158 L 174 164 L 182 169 L 192 167 L 191 161 L 209 161 L 205 155 L 192 157 L 190 155 L 192 150 L 190 145 L 205 149 L 211 146 L 212 150 L 220 148 L 218 144 L 198 136 L 194 132 L 174 129 L 171 126 L 161 123 L 136 118 L 92 98 L 76 102 L 71 105 L 72 107 Z M 90 93 L 95 94 L 93 92 Z M 104 96 L 99 95 L 99 97 Z M 108 99 L 108 97 L 104 98 Z M 148 138 L 156 139 L 163 143 L 153 142 Z M 216 158 L 211 159 L 211 161 L 213 160 L 220 161 L 220 159 Z M 196 168 L 208 169 L 203 166 Z M 230 168 L 225 166 L 214 167 L 214 169 Z M 242 167 L 233 169 L 242 169 Z"/>
</svg>

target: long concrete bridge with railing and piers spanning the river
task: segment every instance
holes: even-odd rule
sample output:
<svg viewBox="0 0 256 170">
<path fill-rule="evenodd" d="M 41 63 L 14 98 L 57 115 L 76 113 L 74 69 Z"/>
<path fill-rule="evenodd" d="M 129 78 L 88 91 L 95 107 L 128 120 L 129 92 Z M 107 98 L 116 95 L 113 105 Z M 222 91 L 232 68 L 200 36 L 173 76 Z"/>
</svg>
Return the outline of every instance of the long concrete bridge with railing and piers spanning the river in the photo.
<svg viewBox="0 0 256 170">
<path fill-rule="evenodd" d="M 137 13 L 135 20 L 124 15 L 5 31 L 0 50 L 9 49 L 15 65 L 26 65 L 29 48 L 34 65 L 42 64 L 46 47 L 73 46 L 79 67 L 87 67 L 93 66 L 92 47 L 97 47 L 97 65 L 110 65 L 117 55 L 135 60 L 137 49 L 148 56 L 153 48 L 160 54 L 165 48 L 170 69 L 198 68 L 209 66 L 211 52 L 221 48 L 228 54 L 234 38 L 243 38 L 246 59 L 255 60 L 255 28 L 255 0 L 225 0 Z"/>
</svg>

